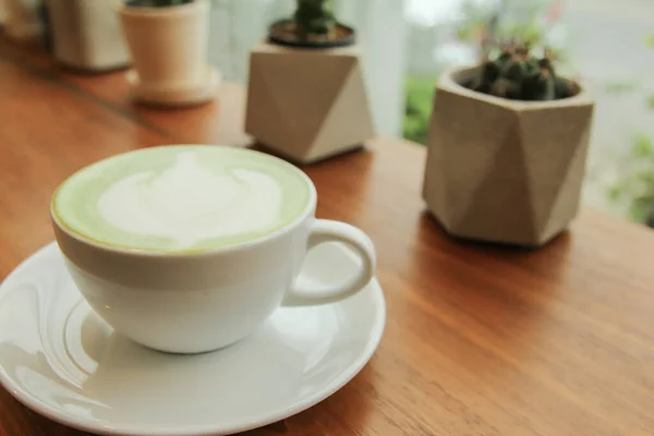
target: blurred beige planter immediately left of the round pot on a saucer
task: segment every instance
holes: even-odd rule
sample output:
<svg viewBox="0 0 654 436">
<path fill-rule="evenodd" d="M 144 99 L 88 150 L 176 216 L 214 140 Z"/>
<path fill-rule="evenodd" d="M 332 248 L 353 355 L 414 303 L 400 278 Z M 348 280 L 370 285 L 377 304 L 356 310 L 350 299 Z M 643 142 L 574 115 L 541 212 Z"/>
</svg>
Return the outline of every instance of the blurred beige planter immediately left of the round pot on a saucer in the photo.
<svg viewBox="0 0 654 436">
<path fill-rule="evenodd" d="M 55 58 L 83 71 L 125 68 L 129 51 L 116 0 L 48 0 L 48 19 Z"/>
</svg>

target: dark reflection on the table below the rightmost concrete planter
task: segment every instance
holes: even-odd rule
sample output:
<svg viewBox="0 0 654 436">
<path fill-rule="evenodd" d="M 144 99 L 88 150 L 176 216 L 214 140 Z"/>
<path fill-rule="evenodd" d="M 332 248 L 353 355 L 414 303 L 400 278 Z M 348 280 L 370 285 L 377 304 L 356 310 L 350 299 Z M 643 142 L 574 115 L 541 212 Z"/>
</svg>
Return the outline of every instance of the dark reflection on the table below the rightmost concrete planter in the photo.
<svg viewBox="0 0 654 436">
<path fill-rule="evenodd" d="M 535 358 L 566 290 L 570 246 L 569 233 L 541 250 L 459 240 L 422 213 L 407 274 L 440 351 L 499 378 L 510 374 L 507 356 Z"/>
</svg>

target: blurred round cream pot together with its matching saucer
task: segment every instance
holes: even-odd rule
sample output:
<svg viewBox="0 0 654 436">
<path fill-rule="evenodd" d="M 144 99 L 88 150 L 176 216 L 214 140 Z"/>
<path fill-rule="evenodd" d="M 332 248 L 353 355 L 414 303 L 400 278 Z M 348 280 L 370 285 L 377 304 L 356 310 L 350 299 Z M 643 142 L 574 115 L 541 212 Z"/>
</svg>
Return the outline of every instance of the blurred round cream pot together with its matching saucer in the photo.
<svg viewBox="0 0 654 436">
<path fill-rule="evenodd" d="M 119 15 L 133 69 L 134 98 L 181 106 L 215 97 L 218 72 L 207 60 L 208 0 L 126 0 Z"/>
</svg>

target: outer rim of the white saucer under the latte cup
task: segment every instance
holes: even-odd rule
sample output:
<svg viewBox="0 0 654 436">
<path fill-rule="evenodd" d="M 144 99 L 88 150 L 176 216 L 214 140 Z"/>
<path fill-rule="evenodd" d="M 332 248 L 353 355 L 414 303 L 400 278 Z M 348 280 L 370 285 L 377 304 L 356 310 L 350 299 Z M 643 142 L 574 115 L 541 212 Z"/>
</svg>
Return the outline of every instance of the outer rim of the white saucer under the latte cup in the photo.
<svg viewBox="0 0 654 436">
<path fill-rule="evenodd" d="M 29 256 L 27 256 L 24 261 L 22 261 L 1 282 L 0 282 L 0 301 L 2 300 L 5 283 L 10 281 L 14 276 L 17 276 L 22 272 L 23 269 L 27 268 L 35 258 L 39 256 L 46 256 L 49 251 L 59 251 L 58 255 L 61 255 L 57 241 L 52 241 L 40 249 L 33 252 Z M 387 307 L 386 307 L 386 299 L 384 295 L 384 291 L 376 278 L 376 276 L 371 280 L 367 287 L 372 287 L 371 292 L 374 293 L 375 299 L 379 301 L 378 308 L 378 319 L 376 325 L 372 329 L 373 335 L 371 336 L 365 348 L 362 349 L 360 356 L 354 360 L 354 362 L 344 368 L 341 372 L 341 376 L 337 377 L 331 384 L 328 385 L 328 388 L 322 389 L 314 393 L 311 397 L 307 397 L 304 401 L 300 401 L 294 407 L 283 409 L 281 411 L 277 411 L 276 413 L 264 415 L 264 417 L 258 419 L 256 421 L 251 421 L 245 425 L 232 426 L 232 427 L 220 427 L 219 425 L 204 425 L 204 426 L 193 426 L 193 424 L 189 424 L 186 428 L 153 428 L 153 426 L 148 425 L 147 427 L 143 426 L 134 426 L 134 425 L 120 425 L 120 426 L 111 426 L 107 427 L 106 425 L 100 424 L 97 421 L 88 420 L 88 419 L 72 419 L 66 416 L 55 408 L 43 404 L 43 402 L 38 401 L 34 396 L 26 392 L 21 386 L 13 383 L 13 379 L 7 374 L 7 372 L 0 366 L 0 385 L 9 392 L 11 397 L 13 397 L 21 404 L 31 409 L 33 412 L 40 414 L 41 416 L 49 419 L 58 424 L 78 429 L 82 432 L 88 432 L 97 435 L 107 435 L 107 436 L 227 436 L 233 435 L 237 433 L 247 432 L 261 427 L 265 427 L 267 425 L 274 424 L 276 422 L 289 419 L 294 416 L 318 404 L 319 402 L 326 400 L 331 397 L 347 384 L 349 384 L 354 377 L 356 377 L 361 371 L 365 367 L 365 365 L 371 361 L 375 351 L 379 347 L 382 342 L 382 338 L 384 336 L 384 331 L 386 329 L 386 320 L 387 320 Z M 344 376 L 343 376 L 344 375 Z"/>
</svg>

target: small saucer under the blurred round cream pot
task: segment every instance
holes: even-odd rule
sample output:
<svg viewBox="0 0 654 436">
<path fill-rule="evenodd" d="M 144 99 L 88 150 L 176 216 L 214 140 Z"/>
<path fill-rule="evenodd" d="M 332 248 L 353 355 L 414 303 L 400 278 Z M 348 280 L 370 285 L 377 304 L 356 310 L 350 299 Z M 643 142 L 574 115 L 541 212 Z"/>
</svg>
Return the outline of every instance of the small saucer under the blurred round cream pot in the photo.
<svg viewBox="0 0 654 436">
<path fill-rule="evenodd" d="M 205 77 L 199 83 L 179 88 L 142 84 L 133 69 L 125 73 L 125 77 L 133 99 L 158 106 L 190 106 L 213 100 L 221 82 L 220 73 L 213 66 L 207 68 Z"/>
</svg>

